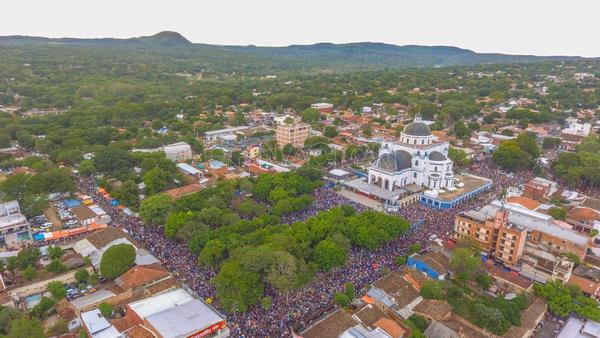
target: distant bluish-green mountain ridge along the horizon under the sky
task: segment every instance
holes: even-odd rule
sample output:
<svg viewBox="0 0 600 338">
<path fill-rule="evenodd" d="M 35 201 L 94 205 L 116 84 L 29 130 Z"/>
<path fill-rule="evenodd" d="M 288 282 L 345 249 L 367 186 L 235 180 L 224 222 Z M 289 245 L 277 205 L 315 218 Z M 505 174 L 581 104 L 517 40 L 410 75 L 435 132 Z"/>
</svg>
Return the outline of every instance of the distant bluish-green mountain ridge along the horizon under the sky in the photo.
<svg viewBox="0 0 600 338">
<path fill-rule="evenodd" d="M 151 48 L 156 51 L 176 52 L 178 50 L 195 53 L 210 51 L 215 54 L 232 53 L 239 62 L 248 58 L 262 59 L 265 63 L 272 60 L 294 64 L 319 63 L 325 67 L 430 67 L 486 63 L 513 63 L 560 60 L 588 60 L 580 56 L 536 56 L 511 55 L 501 53 L 478 53 L 470 49 L 455 46 L 394 45 L 382 42 L 353 42 L 335 44 L 321 42 L 315 44 L 292 44 L 282 47 L 255 45 L 215 45 L 192 43 L 184 36 L 173 31 L 162 31 L 151 36 L 127 39 L 119 38 L 47 38 L 35 36 L 0 36 L 3 45 L 68 45 L 68 46 L 120 46 Z"/>
</svg>

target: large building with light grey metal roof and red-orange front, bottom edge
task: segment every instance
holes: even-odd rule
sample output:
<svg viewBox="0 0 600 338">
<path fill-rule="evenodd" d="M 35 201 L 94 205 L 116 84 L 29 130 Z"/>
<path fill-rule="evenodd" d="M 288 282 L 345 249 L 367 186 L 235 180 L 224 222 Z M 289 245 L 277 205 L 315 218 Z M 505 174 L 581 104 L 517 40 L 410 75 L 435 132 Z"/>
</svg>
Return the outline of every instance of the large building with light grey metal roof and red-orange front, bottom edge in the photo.
<svg viewBox="0 0 600 338">
<path fill-rule="evenodd" d="M 183 289 L 130 303 L 127 315 L 156 337 L 229 337 L 225 316 Z"/>
</svg>

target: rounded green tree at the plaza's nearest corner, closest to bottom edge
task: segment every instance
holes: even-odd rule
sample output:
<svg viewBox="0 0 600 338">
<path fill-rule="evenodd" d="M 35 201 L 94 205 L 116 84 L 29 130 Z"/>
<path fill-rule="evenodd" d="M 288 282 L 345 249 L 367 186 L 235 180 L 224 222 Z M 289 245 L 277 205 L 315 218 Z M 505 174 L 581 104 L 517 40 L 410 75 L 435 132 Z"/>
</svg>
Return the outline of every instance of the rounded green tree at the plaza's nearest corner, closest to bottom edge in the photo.
<svg viewBox="0 0 600 338">
<path fill-rule="evenodd" d="M 225 262 L 213 283 L 219 302 L 227 311 L 245 312 L 260 300 L 264 290 L 260 275 L 236 261 Z"/>
</svg>

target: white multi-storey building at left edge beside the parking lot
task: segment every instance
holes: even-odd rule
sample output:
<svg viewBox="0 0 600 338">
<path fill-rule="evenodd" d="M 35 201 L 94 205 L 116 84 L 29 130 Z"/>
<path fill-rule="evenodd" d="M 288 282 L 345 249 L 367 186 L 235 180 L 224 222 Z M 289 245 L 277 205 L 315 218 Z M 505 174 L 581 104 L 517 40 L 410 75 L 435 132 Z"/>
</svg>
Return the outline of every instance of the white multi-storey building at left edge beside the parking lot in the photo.
<svg viewBox="0 0 600 338">
<path fill-rule="evenodd" d="M 19 202 L 0 202 L 0 249 L 18 249 L 31 241 L 29 222 Z"/>
</svg>

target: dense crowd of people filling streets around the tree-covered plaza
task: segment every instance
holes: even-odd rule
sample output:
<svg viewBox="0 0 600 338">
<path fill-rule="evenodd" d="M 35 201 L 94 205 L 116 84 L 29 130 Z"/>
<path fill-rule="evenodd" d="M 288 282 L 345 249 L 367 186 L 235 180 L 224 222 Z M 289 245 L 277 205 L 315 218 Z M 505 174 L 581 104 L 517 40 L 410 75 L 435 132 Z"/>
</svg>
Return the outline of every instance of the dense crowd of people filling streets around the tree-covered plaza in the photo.
<svg viewBox="0 0 600 338">
<path fill-rule="evenodd" d="M 352 249 L 347 264 L 328 273 L 318 273 L 313 282 L 288 295 L 278 295 L 267 288 L 266 293 L 272 297 L 272 306 L 266 310 L 254 306 L 246 313 L 228 314 L 228 323 L 232 337 L 281 337 L 291 336 L 294 329 L 302 329 L 308 320 L 329 309 L 334 293 L 343 290 L 344 285 L 352 283 L 357 292 L 365 291 L 365 287 L 377 280 L 383 271 L 396 266 L 396 257 L 406 254 L 413 243 L 426 246 L 433 235 L 446 240 L 452 231 L 454 217 L 457 213 L 481 207 L 496 198 L 502 189 L 509 186 L 522 185 L 530 174 L 507 177 L 501 174 L 489 160 L 484 160 L 468 168 L 470 173 L 491 178 L 494 186 L 488 193 L 477 196 L 451 210 L 436 210 L 421 204 L 413 204 L 402 208 L 399 215 L 415 225 L 402 237 L 387 243 L 377 250 Z M 97 193 L 92 180 L 82 180 L 81 188 L 98 201 L 103 201 Z M 303 221 L 320 211 L 339 205 L 352 205 L 358 211 L 364 210 L 335 191 L 318 189 L 314 194 L 314 203 L 305 210 L 286 215 L 285 223 Z M 129 216 L 122 210 L 103 203 L 103 207 L 113 219 L 113 224 L 127 230 L 131 236 L 143 244 L 152 254 L 160 259 L 164 266 L 183 283 L 195 291 L 199 297 L 207 299 L 215 297 L 214 286 L 210 279 L 215 271 L 199 266 L 196 257 L 184 243 L 163 236 L 159 227 L 146 227 L 141 218 Z"/>
</svg>

